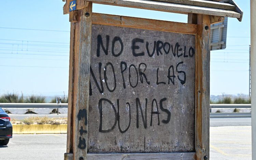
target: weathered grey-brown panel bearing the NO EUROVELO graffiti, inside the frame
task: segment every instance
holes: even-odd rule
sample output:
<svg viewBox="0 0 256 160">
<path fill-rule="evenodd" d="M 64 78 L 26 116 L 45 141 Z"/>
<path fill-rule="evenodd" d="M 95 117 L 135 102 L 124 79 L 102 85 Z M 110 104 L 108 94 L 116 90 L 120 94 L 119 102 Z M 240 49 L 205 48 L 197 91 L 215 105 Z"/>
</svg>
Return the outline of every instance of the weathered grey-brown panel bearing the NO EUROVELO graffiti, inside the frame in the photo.
<svg viewBox="0 0 256 160">
<path fill-rule="evenodd" d="M 195 35 L 93 25 L 91 40 L 88 151 L 195 151 Z"/>
</svg>

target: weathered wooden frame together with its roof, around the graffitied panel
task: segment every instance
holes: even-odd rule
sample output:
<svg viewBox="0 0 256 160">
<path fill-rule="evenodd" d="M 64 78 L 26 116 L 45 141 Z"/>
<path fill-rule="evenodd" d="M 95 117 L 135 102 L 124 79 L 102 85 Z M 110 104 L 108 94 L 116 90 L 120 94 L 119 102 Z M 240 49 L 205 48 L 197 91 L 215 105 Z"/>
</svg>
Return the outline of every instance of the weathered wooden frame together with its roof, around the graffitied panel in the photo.
<svg viewBox="0 0 256 160">
<path fill-rule="evenodd" d="M 65 0 L 64 0 L 65 1 Z M 233 0 L 76 0 L 76 10 L 69 12 L 66 0 L 64 14 L 70 14 L 70 67 L 67 153 L 65 160 L 84 159 L 209 159 L 210 112 L 210 25 L 224 17 L 242 20 L 243 12 Z M 224 3 L 225 2 L 225 3 Z M 125 6 L 164 12 L 188 14 L 188 23 L 92 13 L 92 3 Z M 159 23 L 163 25 L 158 25 Z M 196 36 L 195 57 L 195 151 L 184 153 L 88 154 L 80 149 L 80 127 L 87 131 L 88 112 L 78 120 L 79 111 L 88 111 L 91 25 L 106 25 L 155 31 L 193 34 Z M 83 72 L 82 72 L 83 71 Z M 83 74 L 83 75 L 81 75 Z M 84 78 L 81 78 L 84 77 Z M 86 108 L 84 108 L 86 106 Z M 87 142 L 87 133 L 83 135 Z"/>
</svg>

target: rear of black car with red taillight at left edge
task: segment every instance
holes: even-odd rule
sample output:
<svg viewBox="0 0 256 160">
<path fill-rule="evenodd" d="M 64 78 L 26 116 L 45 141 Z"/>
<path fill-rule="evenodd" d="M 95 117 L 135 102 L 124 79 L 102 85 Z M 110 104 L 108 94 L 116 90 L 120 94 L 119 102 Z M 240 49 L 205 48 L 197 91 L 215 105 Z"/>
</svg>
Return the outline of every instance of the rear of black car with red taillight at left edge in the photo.
<svg viewBox="0 0 256 160">
<path fill-rule="evenodd" d="M 12 138 L 11 118 L 0 107 L 0 145 L 7 145 Z"/>
</svg>

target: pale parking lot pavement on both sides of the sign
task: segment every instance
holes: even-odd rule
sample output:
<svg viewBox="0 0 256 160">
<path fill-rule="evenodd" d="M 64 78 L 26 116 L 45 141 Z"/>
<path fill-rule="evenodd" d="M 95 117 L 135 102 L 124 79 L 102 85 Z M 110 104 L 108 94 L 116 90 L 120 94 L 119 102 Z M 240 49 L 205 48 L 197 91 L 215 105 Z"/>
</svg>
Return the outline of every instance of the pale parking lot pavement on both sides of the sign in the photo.
<svg viewBox="0 0 256 160">
<path fill-rule="evenodd" d="M 0 146 L 5 160 L 63 160 L 67 134 L 13 135 Z M 211 160 L 251 160 L 251 126 L 210 127 Z"/>
</svg>

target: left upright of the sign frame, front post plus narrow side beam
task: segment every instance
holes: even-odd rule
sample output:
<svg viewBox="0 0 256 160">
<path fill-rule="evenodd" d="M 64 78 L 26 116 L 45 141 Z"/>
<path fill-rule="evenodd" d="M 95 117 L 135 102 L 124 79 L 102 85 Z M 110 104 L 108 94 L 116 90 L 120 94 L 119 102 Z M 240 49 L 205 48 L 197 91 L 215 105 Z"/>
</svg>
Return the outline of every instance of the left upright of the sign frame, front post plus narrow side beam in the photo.
<svg viewBox="0 0 256 160">
<path fill-rule="evenodd" d="M 77 118 L 77 113 L 84 109 L 88 111 L 89 101 L 89 69 L 92 3 L 80 11 L 70 14 L 70 67 L 69 67 L 69 104 L 68 104 L 68 134 L 67 152 L 72 152 L 74 159 L 83 159 L 87 156 L 87 115 Z M 81 72 L 80 70 L 85 70 Z M 81 75 L 85 73 L 85 75 Z M 82 78 L 83 77 L 83 78 Z M 87 106 L 87 108 L 84 108 Z M 76 126 L 76 127 L 75 127 Z M 81 128 L 80 128 L 81 127 Z M 79 130 L 86 131 L 83 139 Z M 81 140 L 81 141 L 77 141 Z M 80 144 L 84 142 L 84 144 Z M 81 146 L 81 147 L 77 147 Z M 83 149 L 81 149 L 83 148 Z M 86 152 L 84 151 L 86 150 Z M 81 157 L 82 155 L 82 157 Z M 77 158 L 78 157 L 78 158 Z M 68 157 L 65 156 L 67 159 Z"/>
</svg>

